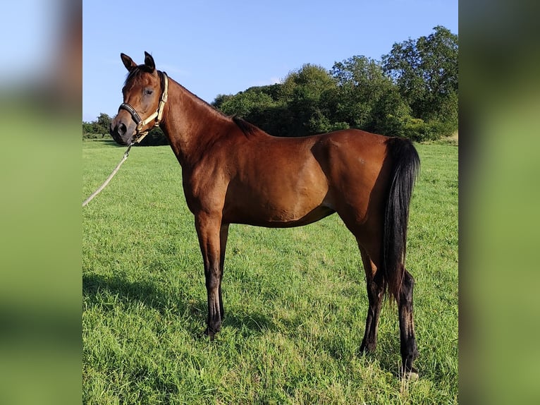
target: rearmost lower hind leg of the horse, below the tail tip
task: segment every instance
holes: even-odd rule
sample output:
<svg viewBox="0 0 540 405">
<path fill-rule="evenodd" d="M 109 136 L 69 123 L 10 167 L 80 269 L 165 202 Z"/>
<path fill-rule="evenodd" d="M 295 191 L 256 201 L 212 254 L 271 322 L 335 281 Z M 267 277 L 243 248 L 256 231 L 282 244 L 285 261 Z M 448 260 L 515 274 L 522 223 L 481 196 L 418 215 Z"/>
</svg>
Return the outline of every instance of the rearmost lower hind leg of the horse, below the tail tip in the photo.
<svg viewBox="0 0 540 405">
<path fill-rule="evenodd" d="M 418 377 L 418 371 L 412 366 L 412 362 L 418 356 L 415 322 L 412 318 L 412 289 L 414 284 L 415 279 L 405 270 L 400 291 L 399 317 L 401 361 L 403 375 L 407 377 Z"/>
</svg>

